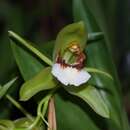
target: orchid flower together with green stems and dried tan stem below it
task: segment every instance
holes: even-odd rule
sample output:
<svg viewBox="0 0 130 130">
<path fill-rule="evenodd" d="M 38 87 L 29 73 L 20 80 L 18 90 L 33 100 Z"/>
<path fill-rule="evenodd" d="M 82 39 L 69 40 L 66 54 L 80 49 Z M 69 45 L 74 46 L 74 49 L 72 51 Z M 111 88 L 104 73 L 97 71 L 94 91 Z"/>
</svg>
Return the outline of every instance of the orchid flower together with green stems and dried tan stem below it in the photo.
<svg viewBox="0 0 130 130">
<path fill-rule="evenodd" d="M 17 122 L 25 123 L 27 120 L 29 122 L 24 126 L 19 125 L 19 127 L 17 127 L 17 125 L 15 125 L 16 130 L 36 128 L 38 124 L 41 124 L 41 120 L 47 125 L 48 130 L 56 130 L 54 95 L 59 88 L 64 89 L 70 95 L 82 99 L 100 116 L 109 118 L 107 102 L 102 98 L 101 92 L 96 85 L 94 86 L 89 81 L 93 78 L 93 73 L 103 75 L 110 80 L 113 80 L 113 78 L 109 73 L 96 68 L 86 67 L 85 64 L 87 55 L 84 53 L 84 48 L 87 45 L 87 41 L 98 39 L 101 35 L 103 35 L 101 32 L 88 34 L 82 21 L 67 25 L 58 33 L 53 49 L 53 58 L 49 59 L 28 41 L 24 40 L 16 33 L 9 31 L 11 47 L 18 66 L 20 66 L 21 63 L 17 60 L 15 55 L 14 50 L 16 43 L 20 45 L 21 48 L 24 47 L 24 49 L 30 51 L 46 64 L 46 67 L 31 79 L 26 80 L 20 88 L 21 101 L 28 101 L 41 91 L 47 92 L 46 95 L 43 95 L 43 98 L 38 104 L 37 116 L 35 118 L 9 95 L 6 95 L 6 97 L 26 115 L 25 119 L 20 119 Z M 22 74 L 23 72 L 20 67 L 19 69 Z M 3 95 L 15 80 L 16 79 L 13 79 L 8 87 L 2 87 L 5 89 Z M 3 95 L 1 95 L 1 97 Z M 45 119 L 47 112 L 48 121 Z M 18 124 L 17 122 L 15 122 L 15 124 Z"/>
</svg>

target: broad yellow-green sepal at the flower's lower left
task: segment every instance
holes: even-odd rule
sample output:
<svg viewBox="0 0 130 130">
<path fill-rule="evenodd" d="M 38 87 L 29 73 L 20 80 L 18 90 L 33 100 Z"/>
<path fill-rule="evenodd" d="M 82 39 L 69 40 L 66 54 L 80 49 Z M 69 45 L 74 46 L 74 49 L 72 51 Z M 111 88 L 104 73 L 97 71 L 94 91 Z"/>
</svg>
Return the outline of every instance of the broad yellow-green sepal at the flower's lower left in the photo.
<svg viewBox="0 0 130 130">
<path fill-rule="evenodd" d="M 55 88 L 56 85 L 57 82 L 51 74 L 51 68 L 47 67 L 22 85 L 20 89 L 20 100 L 29 100 L 36 93 Z"/>
</svg>

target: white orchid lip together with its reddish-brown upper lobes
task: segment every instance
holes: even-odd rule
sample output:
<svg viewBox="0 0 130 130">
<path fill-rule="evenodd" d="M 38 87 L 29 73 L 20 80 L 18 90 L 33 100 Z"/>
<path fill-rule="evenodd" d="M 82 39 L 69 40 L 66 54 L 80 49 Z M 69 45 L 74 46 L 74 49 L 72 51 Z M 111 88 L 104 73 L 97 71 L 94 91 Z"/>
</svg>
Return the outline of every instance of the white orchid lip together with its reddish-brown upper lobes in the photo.
<svg viewBox="0 0 130 130">
<path fill-rule="evenodd" d="M 72 46 L 75 49 L 77 62 L 74 64 L 67 64 L 65 59 L 58 56 L 56 63 L 52 66 L 52 74 L 64 85 L 74 85 L 80 86 L 83 83 L 86 83 L 91 75 L 84 70 L 83 61 L 84 55 L 77 49 L 77 45 Z M 78 54 L 79 53 L 79 54 Z"/>
</svg>

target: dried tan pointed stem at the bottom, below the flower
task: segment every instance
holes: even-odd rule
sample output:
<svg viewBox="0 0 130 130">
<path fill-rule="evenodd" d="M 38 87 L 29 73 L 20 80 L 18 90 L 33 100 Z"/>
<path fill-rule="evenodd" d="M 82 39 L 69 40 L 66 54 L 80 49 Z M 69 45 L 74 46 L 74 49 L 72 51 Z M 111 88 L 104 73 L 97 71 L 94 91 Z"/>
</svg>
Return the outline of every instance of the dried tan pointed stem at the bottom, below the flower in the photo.
<svg viewBox="0 0 130 130">
<path fill-rule="evenodd" d="M 56 130 L 56 114 L 55 114 L 55 104 L 54 104 L 54 97 L 52 97 L 49 101 L 49 108 L 48 108 L 48 123 L 49 127 L 48 130 Z"/>
</svg>

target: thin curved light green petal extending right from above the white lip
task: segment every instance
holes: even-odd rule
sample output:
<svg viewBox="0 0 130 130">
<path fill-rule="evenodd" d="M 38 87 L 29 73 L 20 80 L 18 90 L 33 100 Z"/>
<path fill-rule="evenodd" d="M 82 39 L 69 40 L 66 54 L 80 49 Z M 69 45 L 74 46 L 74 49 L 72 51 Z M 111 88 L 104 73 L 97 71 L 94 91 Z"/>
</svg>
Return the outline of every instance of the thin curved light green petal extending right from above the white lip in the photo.
<svg viewBox="0 0 130 130">
<path fill-rule="evenodd" d="M 87 72 L 90 72 L 90 73 L 97 73 L 97 74 L 104 75 L 107 78 L 110 78 L 111 80 L 113 80 L 113 77 L 109 73 L 107 73 L 105 71 L 102 71 L 102 70 L 99 70 L 99 69 L 96 69 L 96 68 L 88 68 L 88 67 L 86 67 L 85 70 Z"/>
</svg>

